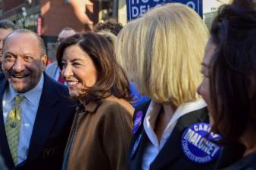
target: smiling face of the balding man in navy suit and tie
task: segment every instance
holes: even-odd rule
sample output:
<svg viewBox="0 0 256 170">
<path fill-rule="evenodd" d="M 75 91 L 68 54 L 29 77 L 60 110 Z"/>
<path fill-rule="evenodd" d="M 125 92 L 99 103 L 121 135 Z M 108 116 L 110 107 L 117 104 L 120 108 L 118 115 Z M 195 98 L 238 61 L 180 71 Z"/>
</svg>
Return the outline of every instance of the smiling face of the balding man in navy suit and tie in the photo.
<svg viewBox="0 0 256 170">
<path fill-rule="evenodd" d="M 3 47 L 2 69 L 15 91 L 30 91 L 38 84 L 46 66 L 38 39 L 29 32 L 14 32 Z"/>
</svg>

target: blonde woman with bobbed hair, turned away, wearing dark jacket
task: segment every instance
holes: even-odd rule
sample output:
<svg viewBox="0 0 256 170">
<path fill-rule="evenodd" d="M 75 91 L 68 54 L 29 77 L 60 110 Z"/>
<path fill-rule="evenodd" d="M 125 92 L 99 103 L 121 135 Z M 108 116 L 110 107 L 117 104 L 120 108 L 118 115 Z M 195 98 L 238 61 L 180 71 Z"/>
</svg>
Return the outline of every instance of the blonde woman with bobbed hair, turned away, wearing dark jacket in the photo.
<svg viewBox="0 0 256 170">
<path fill-rule="evenodd" d="M 212 169 L 220 147 L 208 134 L 206 104 L 196 92 L 208 30 L 185 5 L 155 8 L 128 23 L 116 54 L 149 103 L 136 108 L 129 169 Z M 211 148 L 211 149 L 210 149 Z"/>
</svg>

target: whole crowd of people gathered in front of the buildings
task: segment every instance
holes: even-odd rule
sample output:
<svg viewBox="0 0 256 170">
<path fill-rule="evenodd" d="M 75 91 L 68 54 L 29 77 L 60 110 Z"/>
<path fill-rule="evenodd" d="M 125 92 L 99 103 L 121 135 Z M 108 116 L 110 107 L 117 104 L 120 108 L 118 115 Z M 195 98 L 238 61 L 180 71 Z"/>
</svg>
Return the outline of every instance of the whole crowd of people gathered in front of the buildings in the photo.
<svg viewBox="0 0 256 170">
<path fill-rule="evenodd" d="M 170 3 L 42 38 L 0 20 L 1 170 L 256 169 L 256 2 Z"/>
</svg>

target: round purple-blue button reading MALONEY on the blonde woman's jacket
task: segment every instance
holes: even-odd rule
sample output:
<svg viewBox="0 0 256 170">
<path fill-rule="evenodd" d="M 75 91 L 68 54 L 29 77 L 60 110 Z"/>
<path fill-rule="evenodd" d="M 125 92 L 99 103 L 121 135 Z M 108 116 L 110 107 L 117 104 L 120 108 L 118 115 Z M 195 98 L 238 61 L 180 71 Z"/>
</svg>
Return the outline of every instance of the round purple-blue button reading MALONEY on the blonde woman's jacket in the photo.
<svg viewBox="0 0 256 170">
<path fill-rule="evenodd" d="M 220 140 L 219 134 L 211 132 L 207 123 L 196 123 L 184 131 L 181 145 L 184 155 L 192 162 L 204 164 L 217 158 L 220 145 L 214 141 Z"/>
</svg>

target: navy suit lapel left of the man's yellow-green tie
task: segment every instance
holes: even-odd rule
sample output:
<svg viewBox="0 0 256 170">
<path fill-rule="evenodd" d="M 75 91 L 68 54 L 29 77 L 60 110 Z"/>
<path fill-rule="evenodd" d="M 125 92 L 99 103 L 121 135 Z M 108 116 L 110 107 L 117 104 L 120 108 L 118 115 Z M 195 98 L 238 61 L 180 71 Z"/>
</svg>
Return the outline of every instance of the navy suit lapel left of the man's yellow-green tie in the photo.
<svg viewBox="0 0 256 170">
<path fill-rule="evenodd" d="M 8 168 L 13 168 L 14 167 L 14 162 L 11 157 L 11 152 L 9 150 L 9 145 L 8 141 L 6 138 L 6 133 L 5 133 L 5 122 L 4 122 L 4 116 L 3 116 L 3 107 L 2 107 L 2 100 L 3 100 L 3 95 L 5 92 L 5 87 L 8 85 L 7 79 L 1 79 L 0 81 L 0 151 L 2 156 L 5 159 L 5 163 L 8 166 Z"/>
</svg>

